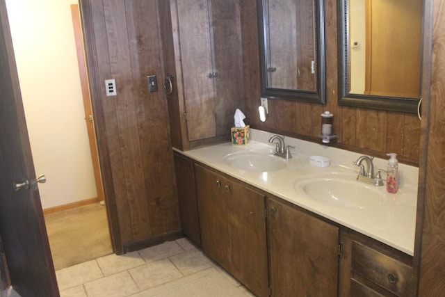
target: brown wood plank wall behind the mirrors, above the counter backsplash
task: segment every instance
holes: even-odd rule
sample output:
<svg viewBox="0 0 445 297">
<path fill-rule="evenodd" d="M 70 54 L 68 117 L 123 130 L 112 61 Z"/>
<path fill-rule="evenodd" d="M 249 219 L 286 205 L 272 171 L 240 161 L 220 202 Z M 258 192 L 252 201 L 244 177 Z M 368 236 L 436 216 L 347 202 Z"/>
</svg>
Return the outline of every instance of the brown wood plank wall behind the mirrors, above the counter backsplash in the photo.
<svg viewBox="0 0 445 297">
<path fill-rule="evenodd" d="M 256 0 L 243 1 L 243 47 L 245 63 L 246 116 L 251 127 L 321 143 L 321 113 L 334 113 L 333 145 L 387 159 L 396 152 L 404 163 L 419 163 L 420 120 L 417 115 L 339 106 L 337 74 L 337 1 L 325 1 L 327 104 L 308 104 L 269 99 L 269 118 L 260 122 L 259 53 Z M 255 24 L 254 24 L 255 23 Z"/>
</svg>

